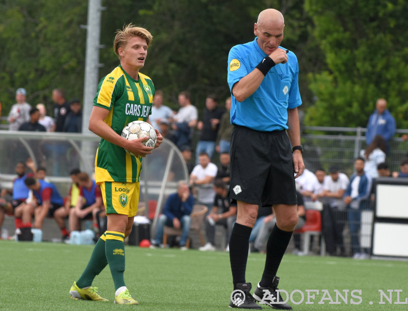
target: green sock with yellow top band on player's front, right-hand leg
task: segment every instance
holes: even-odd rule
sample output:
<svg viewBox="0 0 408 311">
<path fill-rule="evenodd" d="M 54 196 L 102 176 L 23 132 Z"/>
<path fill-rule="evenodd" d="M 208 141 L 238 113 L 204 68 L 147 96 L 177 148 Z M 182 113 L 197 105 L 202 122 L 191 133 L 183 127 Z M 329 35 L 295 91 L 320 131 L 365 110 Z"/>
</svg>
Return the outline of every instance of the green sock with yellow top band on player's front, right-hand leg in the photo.
<svg viewBox="0 0 408 311">
<path fill-rule="evenodd" d="M 124 234 L 116 231 L 106 231 L 105 253 L 111 269 L 115 291 L 125 286 L 124 272 Z"/>
</svg>

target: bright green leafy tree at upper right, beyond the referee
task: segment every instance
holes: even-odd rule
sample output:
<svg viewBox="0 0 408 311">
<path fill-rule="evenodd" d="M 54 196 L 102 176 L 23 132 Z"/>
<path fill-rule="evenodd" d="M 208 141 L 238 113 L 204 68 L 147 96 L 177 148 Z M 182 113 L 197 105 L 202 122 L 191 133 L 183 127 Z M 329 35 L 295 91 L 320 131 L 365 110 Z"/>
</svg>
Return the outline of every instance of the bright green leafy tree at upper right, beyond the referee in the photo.
<svg viewBox="0 0 408 311">
<path fill-rule="evenodd" d="M 305 2 L 328 67 L 309 74 L 317 100 L 307 125 L 366 126 L 384 97 L 397 127 L 408 126 L 407 9 L 405 1 Z"/>
</svg>

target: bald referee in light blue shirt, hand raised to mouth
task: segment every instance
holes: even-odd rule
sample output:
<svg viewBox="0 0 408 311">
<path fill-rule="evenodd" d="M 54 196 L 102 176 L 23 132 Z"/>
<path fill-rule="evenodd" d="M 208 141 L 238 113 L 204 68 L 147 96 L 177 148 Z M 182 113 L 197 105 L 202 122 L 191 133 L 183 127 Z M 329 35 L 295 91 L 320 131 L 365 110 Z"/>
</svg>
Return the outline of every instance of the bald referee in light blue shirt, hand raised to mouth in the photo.
<svg viewBox="0 0 408 311">
<path fill-rule="evenodd" d="M 276 272 L 298 221 L 295 178 L 304 164 L 297 112 L 301 105 L 298 62 L 291 51 L 279 46 L 284 27 L 281 12 L 264 10 L 254 24 L 257 37 L 234 46 L 228 55 L 234 125 L 229 195 L 238 203 L 230 239 L 234 283 L 230 307 L 262 309 L 256 299 L 275 309 L 292 309 L 276 293 Z M 262 278 L 252 296 L 251 283 L 245 280 L 248 240 L 259 206 L 271 205 L 276 225 L 267 242 Z"/>
</svg>

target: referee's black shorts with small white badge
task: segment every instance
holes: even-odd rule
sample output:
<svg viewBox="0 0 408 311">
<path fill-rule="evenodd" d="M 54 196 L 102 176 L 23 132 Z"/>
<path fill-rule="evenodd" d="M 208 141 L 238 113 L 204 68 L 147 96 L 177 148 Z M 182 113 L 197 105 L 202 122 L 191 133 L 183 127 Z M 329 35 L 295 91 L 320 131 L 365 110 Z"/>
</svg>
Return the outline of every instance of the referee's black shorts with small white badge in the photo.
<svg viewBox="0 0 408 311">
<path fill-rule="evenodd" d="M 230 198 L 259 206 L 296 205 L 292 149 L 285 130 L 260 132 L 234 125 Z"/>
</svg>

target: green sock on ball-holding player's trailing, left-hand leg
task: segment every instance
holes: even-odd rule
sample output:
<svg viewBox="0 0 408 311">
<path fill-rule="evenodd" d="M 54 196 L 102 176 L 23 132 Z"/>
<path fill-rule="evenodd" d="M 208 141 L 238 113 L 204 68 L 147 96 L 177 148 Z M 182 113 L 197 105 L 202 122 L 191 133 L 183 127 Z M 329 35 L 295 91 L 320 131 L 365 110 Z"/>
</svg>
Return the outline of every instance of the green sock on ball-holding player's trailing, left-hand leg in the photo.
<svg viewBox="0 0 408 311">
<path fill-rule="evenodd" d="M 77 281 L 77 286 L 81 289 L 91 286 L 95 276 L 98 275 L 102 270 L 104 270 L 106 265 L 108 265 L 108 261 L 105 255 L 104 239 L 105 234 L 101 236 L 98 242 L 95 244 L 88 265 Z"/>
</svg>

